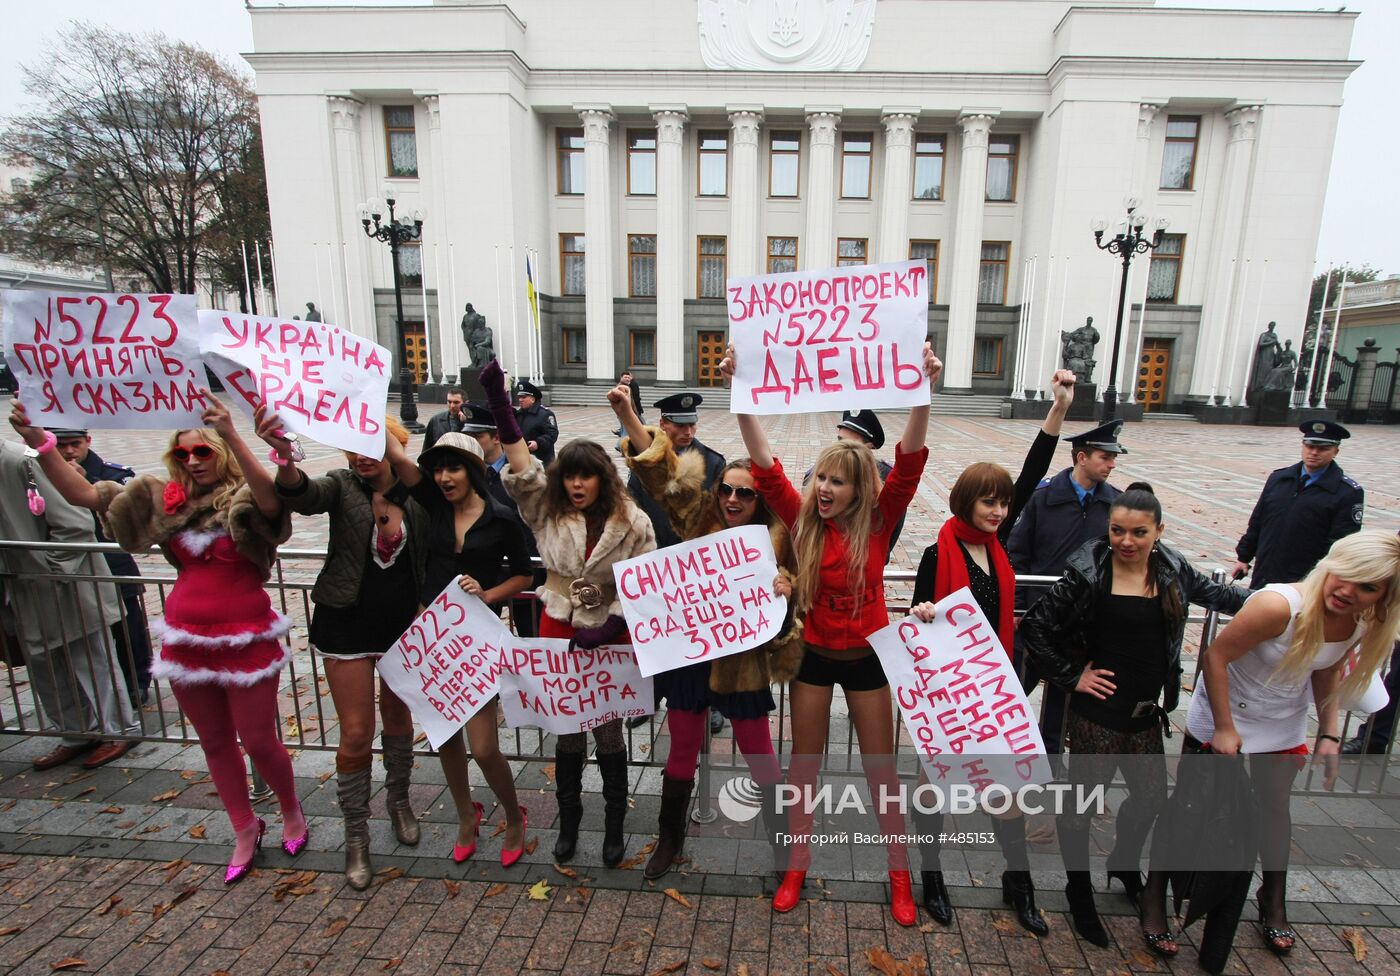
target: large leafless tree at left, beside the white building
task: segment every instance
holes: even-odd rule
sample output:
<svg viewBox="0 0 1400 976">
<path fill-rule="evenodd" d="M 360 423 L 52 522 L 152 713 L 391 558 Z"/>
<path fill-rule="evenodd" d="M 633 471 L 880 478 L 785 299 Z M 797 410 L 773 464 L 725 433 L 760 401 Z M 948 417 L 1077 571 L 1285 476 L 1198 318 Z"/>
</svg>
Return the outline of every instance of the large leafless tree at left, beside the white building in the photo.
<svg viewBox="0 0 1400 976">
<path fill-rule="evenodd" d="M 0 134 L 0 153 L 31 171 L 0 213 L 7 246 L 109 265 L 154 291 L 193 293 L 216 270 L 242 291 L 227 258 L 244 225 L 266 232 L 267 200 L 239 71 L 161 34 L 74 24 L 24 84 L 39 108 Z"/>
</svg>

